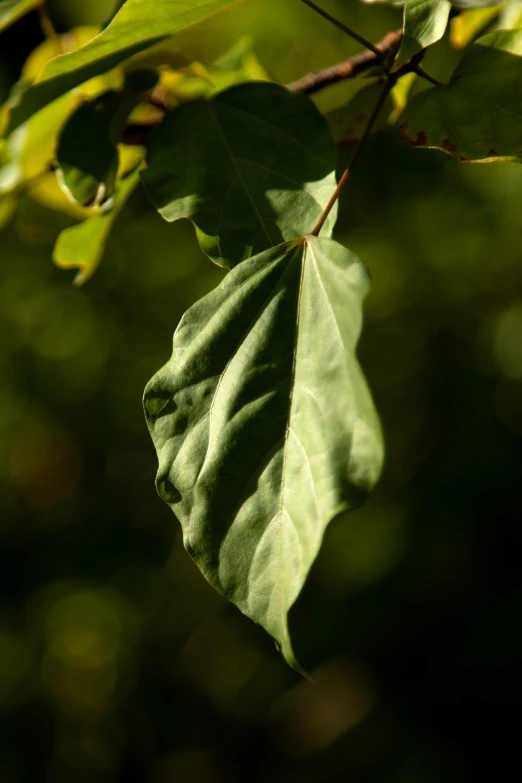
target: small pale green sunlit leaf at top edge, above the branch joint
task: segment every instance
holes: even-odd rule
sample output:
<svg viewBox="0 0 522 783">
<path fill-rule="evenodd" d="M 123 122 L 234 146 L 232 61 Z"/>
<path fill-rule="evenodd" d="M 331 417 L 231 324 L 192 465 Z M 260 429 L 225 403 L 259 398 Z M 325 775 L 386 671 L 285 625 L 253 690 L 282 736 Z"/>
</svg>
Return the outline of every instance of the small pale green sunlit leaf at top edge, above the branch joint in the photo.
<svg viewBox="0 0 522 783">
<path fill-rule="evenodd" d="M 448 26 L 449 0 L 411 0 L 404 6 L 404 33 L 397 64 L 440 41 Z"/>
</svg>

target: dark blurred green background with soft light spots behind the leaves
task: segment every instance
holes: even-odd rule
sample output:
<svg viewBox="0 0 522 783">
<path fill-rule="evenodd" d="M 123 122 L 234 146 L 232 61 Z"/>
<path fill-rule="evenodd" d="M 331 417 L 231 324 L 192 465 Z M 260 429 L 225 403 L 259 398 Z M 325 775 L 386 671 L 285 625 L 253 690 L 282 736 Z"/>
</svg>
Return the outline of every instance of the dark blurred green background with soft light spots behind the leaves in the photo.
<svg viewBox="0 0 522 783">
<path fill-rule="evenodd" d="M 400 12 L 327 2 L 378 40 Z M 107 0 L 56 0 L 59 30 Z M 184 35 L 242 33 L 287 82 L 357 46 L 298 0 Z M 4 96 L 42 40 L 0 36 Z M 425 68 L 444 79 L 447 40 Z M 321 94 L 339 105 L 355 85 Z M 221 277 L 137 193 L 85 287 L 53 267 L 70 218 L 25 196 L 0 233 L 0 781 L 468 783 L 520 774 L 522 169 L 373 137 L 338 236 L 368 265 L 360 358 L 387 466 L 330 526 L 291 613 L 303 681 L 206 584 L 154 489 L 142 390 Z"/>
</svg>

